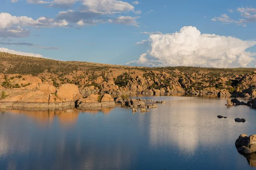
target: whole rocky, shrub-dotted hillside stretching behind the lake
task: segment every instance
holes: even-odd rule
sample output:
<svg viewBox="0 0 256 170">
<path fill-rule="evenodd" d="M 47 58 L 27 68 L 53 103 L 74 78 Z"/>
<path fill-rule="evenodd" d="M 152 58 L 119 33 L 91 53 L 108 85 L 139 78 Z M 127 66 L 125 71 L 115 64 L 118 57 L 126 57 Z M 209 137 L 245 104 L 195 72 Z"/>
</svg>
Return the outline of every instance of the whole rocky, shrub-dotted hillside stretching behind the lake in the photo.
<svg viewBox="0 0 256 170">
<path fill-rule="evenodd" d="M 226 89 L 230 93 L 252 97 L 256 94 L 253 92 L 256 85 L 254 71 L 255 68 L 132 67 L 0 52 L 0 85 L 6 89 L 29 88 L 33 83 L 42 82 L 57 88 L 65 83 L 75 84 L 84 93 L 189 92 L 197 95 L 217 94 Z M 32 77 L 40 81 L 30 81 Z M 226 95 L 227 91 L 222 94 Z"/>
</svg>

